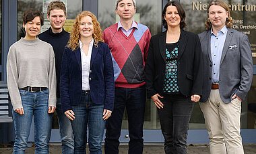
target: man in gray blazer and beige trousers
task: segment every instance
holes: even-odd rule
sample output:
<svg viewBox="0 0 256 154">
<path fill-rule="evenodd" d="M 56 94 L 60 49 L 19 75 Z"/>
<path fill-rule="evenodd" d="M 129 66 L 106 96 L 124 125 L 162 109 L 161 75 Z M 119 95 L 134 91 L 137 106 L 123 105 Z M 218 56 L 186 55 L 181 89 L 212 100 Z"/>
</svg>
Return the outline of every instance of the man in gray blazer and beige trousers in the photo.
<svg viewBox="0 0 256 154">
<path fill-rule="evenodd" d="M 232 29 L 230 9 L 222 0 L 210 2 L 207 14 L 207 31 L 199 33 L 204 66 L 199 105 L 210 152 L 241 154 L 241 102 L 253 78 L 251 46 L 247 35 Z"/>
</svg>

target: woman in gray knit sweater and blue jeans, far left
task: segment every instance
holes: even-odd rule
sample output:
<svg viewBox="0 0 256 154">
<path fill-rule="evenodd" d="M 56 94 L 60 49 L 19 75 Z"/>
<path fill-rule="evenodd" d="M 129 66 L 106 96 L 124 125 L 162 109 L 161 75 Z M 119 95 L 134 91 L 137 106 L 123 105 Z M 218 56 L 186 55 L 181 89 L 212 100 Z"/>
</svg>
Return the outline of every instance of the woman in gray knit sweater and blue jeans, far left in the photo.
<svg viewBox="0 0 256 154">
<path fill-rule="evenodd" d="M 50 44 L 36 37 L 44 23 L 42 13 L 23 14 L 25 37 L 9 48 L 7 86 L 13 106 L 13 153 L 25 153 L 34 117 L 35 153 L 49 153 L 53 112 L 56 106 L 55 56 Z"/>
</svg>

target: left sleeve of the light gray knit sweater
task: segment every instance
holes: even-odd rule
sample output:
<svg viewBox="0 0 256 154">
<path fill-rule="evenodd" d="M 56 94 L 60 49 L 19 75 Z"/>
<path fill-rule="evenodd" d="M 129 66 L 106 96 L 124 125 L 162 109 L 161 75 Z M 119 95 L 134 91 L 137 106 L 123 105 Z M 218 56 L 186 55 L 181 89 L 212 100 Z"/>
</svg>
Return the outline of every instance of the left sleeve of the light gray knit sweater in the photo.
<svg viewBox="0 0 256 154">
<path fill-rule="evenodd" d="M 7 87 L 9 90 L 9 95 L 11 97 L 11 104 L 13 110 L 17 108 L 23 108 L 22 98 L 20 97 L 20 92 L 18 88 L 18 66 L 17 66 L 16 48 L 11 46 L 9 48 L 9 53 L 7 56 Z"/>
</svg>

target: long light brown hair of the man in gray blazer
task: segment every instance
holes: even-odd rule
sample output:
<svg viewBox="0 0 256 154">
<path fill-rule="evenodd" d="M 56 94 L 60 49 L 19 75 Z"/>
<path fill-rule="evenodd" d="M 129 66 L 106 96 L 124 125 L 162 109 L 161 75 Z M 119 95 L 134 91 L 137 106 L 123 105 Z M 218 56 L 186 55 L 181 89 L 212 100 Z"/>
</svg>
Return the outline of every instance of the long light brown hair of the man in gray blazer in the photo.
<svg viewBox="0 0 256 154">
<path fill-rule="evenodd" d="M 230 9 L 229 9 L 228 5 L 226 5 L 226 3 L 222 0 L 212 0 L 209 3 L 209 6 L 207 7 L 207 19 L 205 21 L 205 28 L 207 30 L 210 30 L 212 27 L 212 23 L 210 22 L 210 19 L 209 19 L 209 9 L 212 5 L 219 5 L 220 7 L 223 7 L 228 12 L 228 17 L 226 18 L 226 27 L 232 28 L 234 21 L 230 15 Z"/>
</svg>

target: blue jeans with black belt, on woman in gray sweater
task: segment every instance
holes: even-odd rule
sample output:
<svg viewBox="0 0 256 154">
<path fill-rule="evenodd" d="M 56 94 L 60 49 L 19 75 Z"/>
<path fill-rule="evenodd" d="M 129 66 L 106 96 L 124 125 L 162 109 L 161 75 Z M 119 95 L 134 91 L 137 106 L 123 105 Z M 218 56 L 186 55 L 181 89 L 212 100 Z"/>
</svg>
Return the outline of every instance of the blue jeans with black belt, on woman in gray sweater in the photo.
<svg viewBox="0 0 256 154">
<path fill-rule="evenodd" d="M 20 96 L 25 114 L 21 115 L 13 110 L 15 128 L 13 154 L 25 153 L 33 116 L 36 153 L 49 153 L 53 114 L 48 113 L 48 89 L 39 92 L 20 90 Z"/>
</svg>

